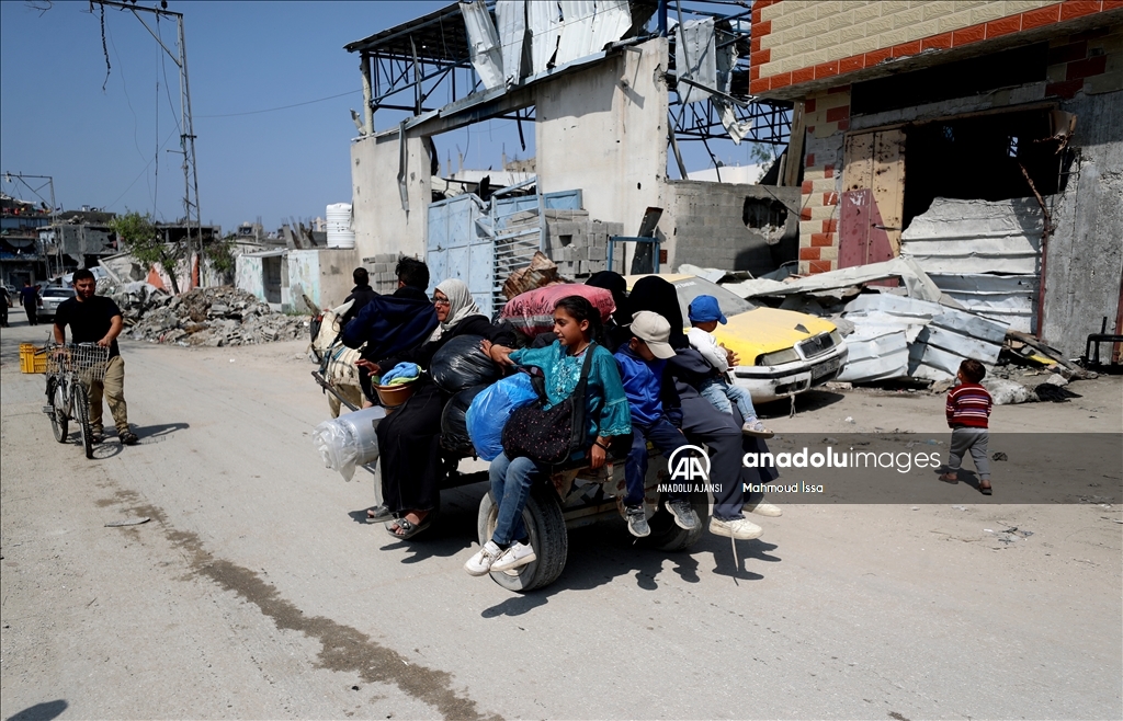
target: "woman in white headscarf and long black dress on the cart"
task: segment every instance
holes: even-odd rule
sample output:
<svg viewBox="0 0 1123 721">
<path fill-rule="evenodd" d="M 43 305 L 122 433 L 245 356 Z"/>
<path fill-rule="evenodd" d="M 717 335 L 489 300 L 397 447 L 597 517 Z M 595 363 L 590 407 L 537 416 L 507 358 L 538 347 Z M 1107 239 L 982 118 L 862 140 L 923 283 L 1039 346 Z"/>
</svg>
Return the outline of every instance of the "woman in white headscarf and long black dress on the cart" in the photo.
<svg viewBox="0 0 1123 721">
<path fill-rule="evenodd" d="M 432 302 L 439 322 L 432 335 L 411 351 L 380 361 L 377 367 L 383 372 L 402 362 L 429 368 L 437 351 L 458 335 L 482 335 L 510 342 L 510 339 L 496 338 L 499 333 L 480 312 L 464 281 L 454 278 L 439 284 Z M 474 352 L 482 353 L 480 350 Z M 416 383 L 418 387 L 409 400 L 387 415 L 375 431 L 384 502 L 367 511 L 367 521 L 393 520 L 387 528 L 400 538 L 424 530 L 429 526 L 429 514 L 439 502 L 444 473 L 440 417 L 451 397 L 428 375 L 423 373 Z"/>
</svg>

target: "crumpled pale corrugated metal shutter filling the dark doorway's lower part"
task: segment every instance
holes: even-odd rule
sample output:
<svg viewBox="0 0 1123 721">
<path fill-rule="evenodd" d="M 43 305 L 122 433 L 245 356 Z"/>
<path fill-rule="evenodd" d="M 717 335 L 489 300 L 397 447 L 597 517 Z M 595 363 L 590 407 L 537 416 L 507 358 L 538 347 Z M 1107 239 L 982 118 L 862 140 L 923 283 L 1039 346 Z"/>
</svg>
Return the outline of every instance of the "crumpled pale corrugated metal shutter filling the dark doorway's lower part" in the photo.
<svg viewBox="0 0 1123 721">
<path fill-rule="evenodd" d="M 1035 325 L 1043 218 L 1035 198 L 938 197 L 902 234 L 941 290 L 985 317 L 1030 332 Z"/>
</svg>

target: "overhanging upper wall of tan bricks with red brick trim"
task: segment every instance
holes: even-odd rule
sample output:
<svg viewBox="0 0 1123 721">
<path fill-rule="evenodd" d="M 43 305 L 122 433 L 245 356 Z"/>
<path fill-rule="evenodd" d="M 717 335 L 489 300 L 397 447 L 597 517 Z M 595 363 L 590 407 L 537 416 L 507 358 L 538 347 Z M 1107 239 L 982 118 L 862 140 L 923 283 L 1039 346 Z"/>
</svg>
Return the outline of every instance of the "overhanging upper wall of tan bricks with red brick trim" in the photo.
<svg viewBox="0 0 1123 721">
<path fill-rule="evenodd" d="M 1123 0 L 757 0 L 750 92 L 791 94 L 793 85 L 1117 9 Z"/>
</svg>

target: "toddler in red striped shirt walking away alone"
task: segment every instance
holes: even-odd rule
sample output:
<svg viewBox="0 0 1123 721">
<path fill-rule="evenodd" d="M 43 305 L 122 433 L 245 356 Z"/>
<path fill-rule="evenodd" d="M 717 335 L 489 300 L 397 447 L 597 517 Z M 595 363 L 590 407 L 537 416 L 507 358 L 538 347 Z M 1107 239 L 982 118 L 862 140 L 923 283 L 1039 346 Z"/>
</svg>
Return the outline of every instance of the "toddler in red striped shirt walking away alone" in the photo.
<svg viewBox="0 0 1123 721">
<path fill-rule="evenodd" d="M 986 377 L 986 368 L 974 359 L 959 364 L 956 380 L 959 385 L 948 391 L 948 427 L 951 428 L 951 449 L 948 455 L 948 472 L 941 481 L 959 482 L 959 468 L 964 455 L 970 451 L 975 469 L 979 472 L 979 492 L 990 496 L 990 461 L 986 456 L 988 429 L 993 400 L 979 381 Z"/>
</svg>

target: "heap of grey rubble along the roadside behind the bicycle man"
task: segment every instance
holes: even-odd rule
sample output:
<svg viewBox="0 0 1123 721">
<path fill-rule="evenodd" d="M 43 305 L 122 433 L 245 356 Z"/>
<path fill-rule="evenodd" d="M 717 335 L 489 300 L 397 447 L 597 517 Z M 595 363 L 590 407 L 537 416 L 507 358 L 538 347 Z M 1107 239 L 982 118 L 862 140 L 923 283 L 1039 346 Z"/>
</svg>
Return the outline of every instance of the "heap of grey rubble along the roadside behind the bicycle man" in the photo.
<svg viewBox="0 0 1123 721">
<path fill-rule="evenodd" d="M 290 341 L 308 332 L 307 317 L 275 313 L 253 294 L 230 286 L 171 296 L 134 283 L 117 288 L 113 299 L 125 318 L 124 334 L 153 343 L 254 345 Z"/>
</svg>

